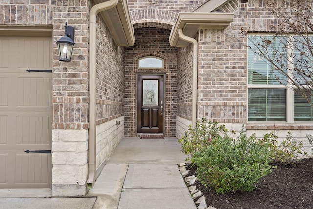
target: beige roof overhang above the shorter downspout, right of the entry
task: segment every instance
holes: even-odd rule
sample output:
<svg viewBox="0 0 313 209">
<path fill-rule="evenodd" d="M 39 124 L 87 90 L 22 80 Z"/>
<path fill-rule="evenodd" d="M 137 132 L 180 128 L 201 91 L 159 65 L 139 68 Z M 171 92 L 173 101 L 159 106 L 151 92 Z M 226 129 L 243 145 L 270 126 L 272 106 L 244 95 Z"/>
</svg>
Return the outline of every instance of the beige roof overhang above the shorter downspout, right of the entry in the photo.
<svg viewBox="0 0 313 209">
<path fill-rule="evenodd" d="M 187 47 L 188 42 L 179 38 L 178 30 L 183 29 L 183 34 L 194 37 L 199 29 L 221 29 L 224 30 L 234 19 L 233 13 L 179 13 L 176 23 L 172 27 L 170 34 L 170 45 L 175 47 Z"/>
</svg>

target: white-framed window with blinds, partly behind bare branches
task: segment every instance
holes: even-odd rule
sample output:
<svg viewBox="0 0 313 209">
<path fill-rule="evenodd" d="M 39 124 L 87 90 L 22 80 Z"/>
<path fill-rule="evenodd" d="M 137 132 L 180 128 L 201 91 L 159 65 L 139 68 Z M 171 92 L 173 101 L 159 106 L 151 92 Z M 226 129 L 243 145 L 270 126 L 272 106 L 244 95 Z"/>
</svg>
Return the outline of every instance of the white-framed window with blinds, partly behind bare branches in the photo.
<svg viewBox="0 0 313 209">
<path fill-rule="evenodd" d="M 288 72 L 291 73 L 291 76 L 299 77 L 299 81 L 303 80 L 296 73 L 296 59 L 291 60 L 292 56 L 288 56 L 288 54 L 292 54 L 293 57 L 300 54 L 302 48 L 300 38 L 297 36 L 288 40 L 284 37 L 272 39 L 272 36 L 265 36 L 265 38 L 271 40 L 271 45 L 275 48 L 272 51 L 268 49 L 267 53 L 270 56 L 278 57 L 280 64 L 286 67 L 286 72 L 287 69 L 293 69 L 293 71 Z M 287 84 L 287 76 L 280 74 L 269 61 L 253 52 L 258 51 L 257 46 L 253 44 L 256 42 L 262 43 L 261 37 L 251 35 L 248 39 L 250 48 L 248 48 L 247 55 L 248 122 L 293 123 L 313 121 L 312 106 L 303 96 L 296 93 L 296 89 L 293 90 L 294 87 L 288 87 L 290 84 Z M 289 46 L 288 49 L 285 46 Z M 277 56 L 277 54 L 280 55 Z M 308 89 L 308 98 L 311 98 L 312 95 L 310 91 L 312 90 Z"/>
</svg>

